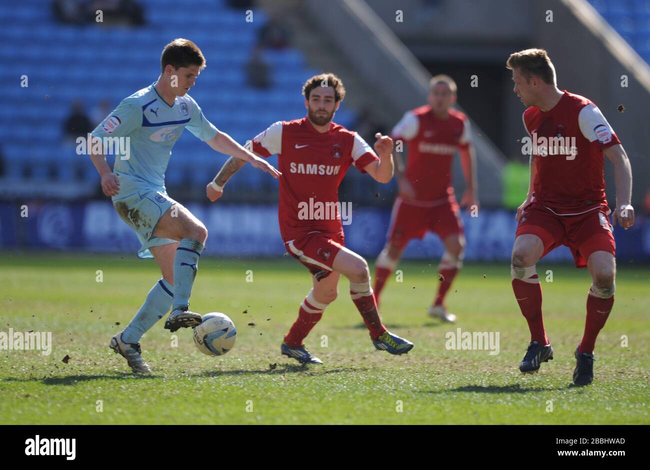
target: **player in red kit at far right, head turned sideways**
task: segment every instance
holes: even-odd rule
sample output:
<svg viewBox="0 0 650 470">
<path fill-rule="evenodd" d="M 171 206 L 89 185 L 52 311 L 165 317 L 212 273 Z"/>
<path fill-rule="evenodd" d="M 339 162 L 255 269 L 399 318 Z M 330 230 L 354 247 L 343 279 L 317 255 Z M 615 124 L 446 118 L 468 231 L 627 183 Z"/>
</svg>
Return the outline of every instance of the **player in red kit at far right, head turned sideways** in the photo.
<svg viewBox="0 0 650 470">
<path fill-rule="evenodd" d="M 616 178 L 612 220 L 625 229 L 634 224 L 632 170 L 621 142 L 596 105 L 557 88 L 546 51 L 513 53 L 506 67 L 512 70 L 513 91 L 527 107 L 523 124 L 531 150 L 528 195 L 517 209 L 511 266 L 512 289 L 530 329 L 530 345 L 519 370 L 536 372 L 542 362 L 553 358 L 535 265 L 564 244 L 571 249 L 576 267 L 587 267 L 592 280 L 573 371 L 573 383 L 587 385 L 593 380 L 596 337 L 614 305 L 616 245 L 605 198 L 603 153 L 614 164 Z"/>
</svg>

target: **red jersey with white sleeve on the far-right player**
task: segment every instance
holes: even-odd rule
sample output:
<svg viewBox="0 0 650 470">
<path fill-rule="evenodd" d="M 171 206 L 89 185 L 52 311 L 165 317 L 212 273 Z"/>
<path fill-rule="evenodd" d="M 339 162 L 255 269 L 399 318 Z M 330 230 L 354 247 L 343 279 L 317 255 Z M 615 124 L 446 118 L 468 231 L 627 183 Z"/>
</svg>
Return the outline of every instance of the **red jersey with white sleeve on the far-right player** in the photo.
<svg viewBox="0 0 650 470">
<path fill-rule="evenodd" d="M 562 91 L 550 111 L 531 106 L 523 121 L 535 155 L 535 197 L 558 215 L 577 215 L 607 207 L 603 149 L 621 141 L 590 99 Z"/>
</svg>

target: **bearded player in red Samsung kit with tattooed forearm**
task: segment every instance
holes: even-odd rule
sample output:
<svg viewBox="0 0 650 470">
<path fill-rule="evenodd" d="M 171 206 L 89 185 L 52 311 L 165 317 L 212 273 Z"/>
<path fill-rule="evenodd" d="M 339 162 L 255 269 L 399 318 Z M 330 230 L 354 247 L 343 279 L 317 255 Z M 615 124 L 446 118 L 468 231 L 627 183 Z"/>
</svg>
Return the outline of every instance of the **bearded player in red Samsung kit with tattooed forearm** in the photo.
<svg viewBox="0 0 650 470">
<path fill-rule="evenodd" d="M 307 116 L 276 122 L 247 142 L 261 157 L 278 154 L 280 233 L 287 252 L 311 272 L 313 289 L 300 305 L 298 319 L 281 345 L 281 353 L 300 363 L 322 363 L 303 344 L 324 309 L 337 296 L 341 274 L 350 281 L 352 302 L 370 331 L 375 348 L 404 354 L 413 343 L 383 326 L 370 287 L 365 259 L 344 246 L 338 189 L 345 172 L 354 166 L 377 181 L 393 177 L 393 140 L 377 134 L 374 150 L 355 132 L 332 119 L 345 96 L 341 79 L 323 73 L 302 88 Z M 218 199 L 226 181 L 241 167 L 230 158 L 206 187 L 211 201 Z M 320 210 L 318 209 L 320 207 Z"/>
</svg>

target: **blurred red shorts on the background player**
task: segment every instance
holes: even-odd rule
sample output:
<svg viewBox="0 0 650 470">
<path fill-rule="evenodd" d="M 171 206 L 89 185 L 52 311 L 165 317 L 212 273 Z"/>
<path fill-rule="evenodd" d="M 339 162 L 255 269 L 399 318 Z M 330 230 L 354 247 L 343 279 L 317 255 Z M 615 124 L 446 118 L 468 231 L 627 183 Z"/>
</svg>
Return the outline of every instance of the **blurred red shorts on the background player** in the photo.
<svg viewBox="0 0 650 470">
<path fill-rule="evenodd" d="M 419 204 L 408 202 L 400 196 L 395 199 L 387 235 L 393 246 L 404 248 L 411 239 L 422 239 L 427 231 L 432 231 L 441 240 L 463 233 L 463 222 L 455 199 L 433 206 Z"/>
</svg>

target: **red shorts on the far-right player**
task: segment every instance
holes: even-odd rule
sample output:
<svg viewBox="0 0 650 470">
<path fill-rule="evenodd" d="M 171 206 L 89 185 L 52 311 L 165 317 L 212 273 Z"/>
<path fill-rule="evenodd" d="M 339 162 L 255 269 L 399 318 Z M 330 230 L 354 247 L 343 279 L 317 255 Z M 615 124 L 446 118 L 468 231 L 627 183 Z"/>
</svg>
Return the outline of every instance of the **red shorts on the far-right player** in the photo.
<svg viewBox="0 0 650 470">
<path fill-rule="evenodd" d="M 556 215 L 535 200 L 524 208 L 516 236 L 537 235 L 544 244 L 542 257 L 558 246 L 568 246 L 575 266 L 585 268 L 593 252 L 616 255 L 614 228 L 607 212 L 608 209 L 599 208 L 580 215 Z"/>
</svg>

